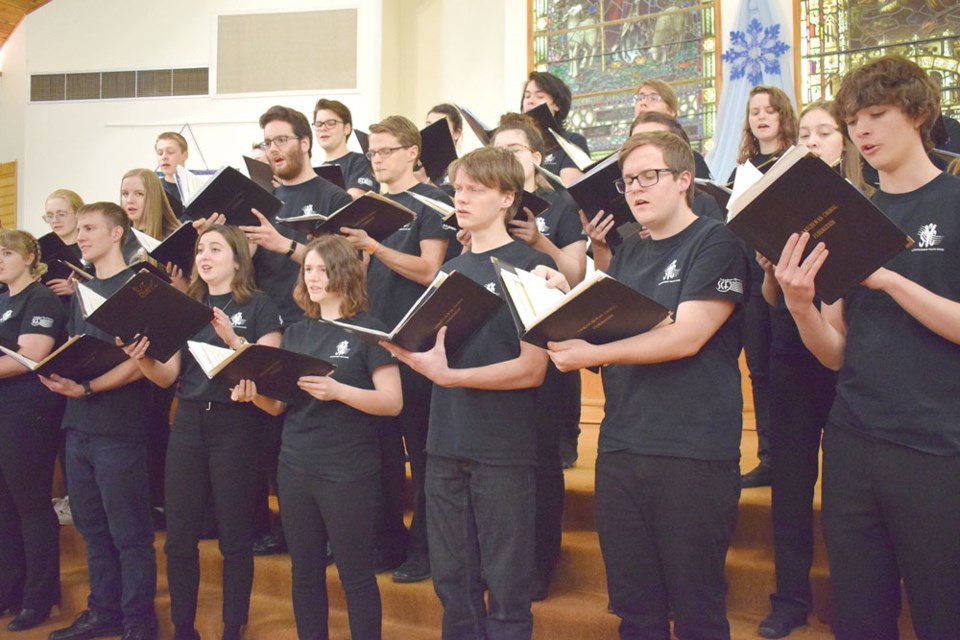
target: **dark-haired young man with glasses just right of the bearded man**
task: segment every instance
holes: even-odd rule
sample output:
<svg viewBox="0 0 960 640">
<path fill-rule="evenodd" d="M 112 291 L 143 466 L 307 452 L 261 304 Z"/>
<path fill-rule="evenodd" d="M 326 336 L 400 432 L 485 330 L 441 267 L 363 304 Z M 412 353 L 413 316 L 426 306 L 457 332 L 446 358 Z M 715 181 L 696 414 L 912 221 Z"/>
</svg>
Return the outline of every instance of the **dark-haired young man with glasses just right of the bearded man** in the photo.
<svg viewBox="0 0 960 640">
<path fill-rule="evenodd" d="M 353 133 L 353 116 L 347 105 L 339 100 L 317 100 L 313 108 L 313 131 L 317 134 L 317 144 L 326 154 L 323 164 L 340 167 L 351 198 L 356 200 L 367 191 L 380 191 L 367 159 L 362 153 L 347 148 L 347 140 Z"/>
</svg>

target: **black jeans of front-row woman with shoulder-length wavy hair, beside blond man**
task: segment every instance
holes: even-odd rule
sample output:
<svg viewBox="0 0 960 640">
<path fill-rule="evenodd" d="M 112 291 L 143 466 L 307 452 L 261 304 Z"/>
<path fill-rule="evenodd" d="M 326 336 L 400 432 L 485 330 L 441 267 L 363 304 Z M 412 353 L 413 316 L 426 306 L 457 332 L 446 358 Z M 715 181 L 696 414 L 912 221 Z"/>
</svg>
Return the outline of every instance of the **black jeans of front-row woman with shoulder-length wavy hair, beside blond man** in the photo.
<svg viewBox="0 0 960 640">
<path fill-rule="evenodd" d="M 331 482 L 280 463 L 283 530 L 293 565 L 293 614 L 300 640 L 326 640 L 327 542 L 347 599 L 350 637 L 378 640 L 380 589 L 373 572 L 380 477 Z"/>
</svg>

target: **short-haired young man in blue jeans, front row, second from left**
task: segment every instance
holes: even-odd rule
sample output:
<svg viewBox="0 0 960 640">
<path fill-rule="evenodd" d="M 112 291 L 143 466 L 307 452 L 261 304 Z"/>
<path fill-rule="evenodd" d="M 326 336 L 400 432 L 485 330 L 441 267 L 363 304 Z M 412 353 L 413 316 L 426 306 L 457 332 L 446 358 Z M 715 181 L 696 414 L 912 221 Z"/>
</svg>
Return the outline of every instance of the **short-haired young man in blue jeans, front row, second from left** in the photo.
<svg viewBox="0 0 960 640">
<path fill-rule="evenodd" d="M 121 247 L 130 230 L 126 212 L 112 202 L 77 211 L 77 245 L 93 265 L 87 283 L 109 297 L 133 276 Z M 113 342 L 83 319 L 76 298 L 67 332 Z M 155 640 L 153 599 L 157 563 L 147 482 L 143 374 L 132 360 L 92 380 L 41 378 L 48 389 L 67 397 L 63 428 L 70 508 L 83 536 L 90 573 L 87 610 L 50 640 L 82 640 L 123 634 L 124 640 Z"/>
</svg>

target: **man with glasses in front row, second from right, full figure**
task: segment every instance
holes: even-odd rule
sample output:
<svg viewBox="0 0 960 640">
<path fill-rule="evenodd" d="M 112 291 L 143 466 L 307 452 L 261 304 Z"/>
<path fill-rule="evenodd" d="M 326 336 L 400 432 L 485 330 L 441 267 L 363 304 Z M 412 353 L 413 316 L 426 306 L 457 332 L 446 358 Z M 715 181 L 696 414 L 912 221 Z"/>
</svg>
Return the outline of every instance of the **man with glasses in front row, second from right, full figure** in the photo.
<svg viewBox="0 0 960 640">
<path fill-rule="evenodd" d="M 603 366 L 596 509 L 621 638 L 727 639 L 724 561 L 740 497 L 737 358 L 749 278 L 737 239 L 690 208 L 694 162 L 672 133 L 620 152 L 617 187 L 650 236 L 598 268 L 673 312 L 673 322 L 609 344 L 550 343 L 561 371 Z"/>
</svg>

